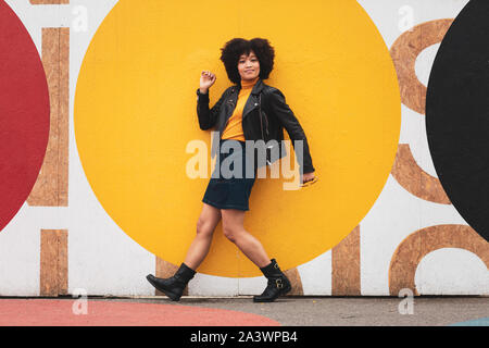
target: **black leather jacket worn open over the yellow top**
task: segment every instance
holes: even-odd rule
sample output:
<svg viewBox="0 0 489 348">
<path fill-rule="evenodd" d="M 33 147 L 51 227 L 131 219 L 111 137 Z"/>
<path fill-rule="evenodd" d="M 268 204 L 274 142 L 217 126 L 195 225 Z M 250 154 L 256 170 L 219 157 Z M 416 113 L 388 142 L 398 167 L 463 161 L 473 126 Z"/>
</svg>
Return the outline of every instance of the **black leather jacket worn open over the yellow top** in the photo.
<svg viewBox="0 0 489 348">
<path fill-rule="evenodd" d="M 214 128 L 218 132 L 221 139 L 227 121 L 235 111 L 240 89 L 240 85 L 228 87 L 212 109 L 209 108 L 209 91 L 206 94 L 201 94 L 200 89 L 197 89 L 197 114 L 199 117 L 199 126 L 202 130 Z M 268 120 L 268 124 L 265 124 L 265 117 L 263 117 L 263 124 L 260 123 L 260 95 L 262 95 L 262 113 L 267 115 L 266 119 Z M 284 128 L 286 128 L 290 139 L 292 140 L 293 147 L 294 140 L 303 140 L 302 173 L 314 172 L 304 130 L 299 124 L 299 121 L 294 116 L 293 112 L 290 110 L 289 105 L 286 103 L 285 96 L 278 88 L 268 86 L 261 78 L 259 78 L 251 90 L 247 103 L 244 104 L 241 124 L 246 140 L 263 139 L 262 130 L 266 132 L 267 129 L 268 133 L 264 133 L 266 134 L 266 140 L 263 140 L 269 141 L 271 139 L 275 139 L 279 142 L 279 159 L 287 154 L 283 141 Z M 296 156 L 298 156 L 297 151 Z M 298 156 L 298 158 L 300 157 Z"/>
</svg>

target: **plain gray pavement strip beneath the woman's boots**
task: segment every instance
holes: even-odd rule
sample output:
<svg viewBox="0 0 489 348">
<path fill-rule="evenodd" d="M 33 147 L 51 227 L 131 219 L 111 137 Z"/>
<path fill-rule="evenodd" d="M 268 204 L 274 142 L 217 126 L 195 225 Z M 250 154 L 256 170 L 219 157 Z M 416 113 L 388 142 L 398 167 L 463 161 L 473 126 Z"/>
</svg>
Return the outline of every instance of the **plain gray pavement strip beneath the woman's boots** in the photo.
<svg viewBox="0 0 489 348">
<path fill-rule="evenodd" d="M 489 297 L 480 296 L 414 297 L 412 307 L 401 306 L 405 314 L 399 307 L 406 299 L 397 297 L 280 297 L 272 303 L 254 303 L 251 296 L 183 297 L 178 302 L 156 296 L 89 299 L 227 309 L 264 315 L 285 326 L 444 326 L 489 316 Z"/>
</svg>

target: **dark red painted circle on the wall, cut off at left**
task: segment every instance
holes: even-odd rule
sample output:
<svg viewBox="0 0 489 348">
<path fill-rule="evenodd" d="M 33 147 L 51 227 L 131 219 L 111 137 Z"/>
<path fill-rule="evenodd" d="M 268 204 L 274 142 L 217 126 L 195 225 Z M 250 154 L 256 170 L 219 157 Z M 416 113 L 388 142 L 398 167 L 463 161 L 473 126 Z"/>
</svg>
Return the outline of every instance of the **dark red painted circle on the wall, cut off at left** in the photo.
<svg viewBox="0 0 489 348">
<path fill-rule="evenodd" d="M 0 1 L 0 231 L 27 199 L 49 137 L 49 92 L 39 53 Z"/>
</svg>

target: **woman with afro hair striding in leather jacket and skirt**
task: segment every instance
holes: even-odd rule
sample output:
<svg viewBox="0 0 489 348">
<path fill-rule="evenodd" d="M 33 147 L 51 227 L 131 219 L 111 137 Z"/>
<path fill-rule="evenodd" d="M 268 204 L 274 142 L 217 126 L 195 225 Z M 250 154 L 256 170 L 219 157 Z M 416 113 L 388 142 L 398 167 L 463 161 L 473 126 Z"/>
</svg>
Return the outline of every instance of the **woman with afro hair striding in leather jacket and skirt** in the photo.
<svg viewBox="0 0 489 348">
<path fill-rule="evenodd" d="M 224 62 L 229 79 L 236 85 L 227 88 L 212 109 L 209 109 L 209 89 L 215 83 L 216 76 L 209 71 L 201 73 L 200 88 L 197 90 L 200 128 L 216 127 L 220 132 L 220 148 L 226 141 L 233 141 L 235 145 L 228 153 L 218 152 L 217 164 L 223 163 L 231 154 L 234 159 L 242 162 L 240 169 L 238 166 L 230 178 L 221 175 L 222 171 L 218 171 L 220 166 L 216 164 L 202 199 L 203 208 L 197 223 L 197 236 L 175 275 L 170 278 L 158 278 L 151 274 L 147 276 L 156 289 L 172 300 L 179 300 L 188 282 L 196 274 L 197 268 L 204 260 L 211 247 L 214 228 L 221 219 L 225 236 L 260 268 L 268 279 L 265 290 L 262 295 L 254 296 L 253 301 L 271 302 L 291 289 L 289 279 L 281 272 L 276 260 L 271 260 L 262 244 L 243 227 L 244 213 L 249 210 L 248 199 L 256 176 L 250 178 L 246 175 L 246 167 L 250 165 L 250 162 L 249 157 L 246 156 L 244 140 L 258 140 L 263 137 L 264 124 L 260 119 L 260 108 L 264 111 L 267 105 L 269 124 L 266 123 L 265 128 L 271 138 L 281 140 L 283 127 L 285 127 L 290 139 L 303 140 L 304 161 L 300 163 L 304 173 L 302 183 L 315 179 L 302 127 L 286 104 L 284 95 L 277 88 L 263 83 L 273 70 L 274 55 L 274 48 L 266 39 L 235 38 L 226 42 L 222 48 L 221 60 Z M 283 156 L 284 153 L 280 154 Z M 234 164 L 230 170 L 234 170 Z M 256 166 L 254 166 L 254 174 L 256 174 Z"/>
</svg>

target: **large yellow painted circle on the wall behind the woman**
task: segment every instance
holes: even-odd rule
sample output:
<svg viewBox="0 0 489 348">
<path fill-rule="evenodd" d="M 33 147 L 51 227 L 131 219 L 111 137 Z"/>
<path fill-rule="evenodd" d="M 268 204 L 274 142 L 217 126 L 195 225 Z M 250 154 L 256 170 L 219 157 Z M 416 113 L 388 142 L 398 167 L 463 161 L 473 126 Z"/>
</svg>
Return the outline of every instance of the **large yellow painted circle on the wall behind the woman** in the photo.
<svg viewBox="0 0 489 348">
<path fill-rule="evenodd" d="M 211 141 L 198 125 L 196 89 L 202 70 L 217 76 L 211 105 L 230 86 L 220 48 L 234 37 L 264 37 L 275 47 L 265 83 L 285 94 L 321 176 L 301 190 L 283 190 L 286 179 L 253 186 L 244 228 L 287 270 L 344 238 L 374 204 L 393 163 L 401 113 L 396 72 L 355 1 L 118 1 L 78 76 L 77 147 L 108 214 L 143 248 L 178 265 L 209 183 L 186 175 L 193 157 L 187 144 L 201 139 L 210 149 Z M 221 223 L 198 271 L 261 275 L 223 236 Z"/>
</svg>

